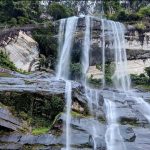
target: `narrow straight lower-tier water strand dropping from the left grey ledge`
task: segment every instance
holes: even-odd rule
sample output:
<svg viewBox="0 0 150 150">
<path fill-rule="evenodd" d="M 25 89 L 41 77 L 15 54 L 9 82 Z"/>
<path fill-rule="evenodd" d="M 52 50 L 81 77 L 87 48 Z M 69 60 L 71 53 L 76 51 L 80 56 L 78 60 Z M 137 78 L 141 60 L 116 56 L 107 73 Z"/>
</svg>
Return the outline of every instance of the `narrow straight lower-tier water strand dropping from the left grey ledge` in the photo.
<svg viewBox="0 0 150 150">
<path fill-rule="evenodd" d="M 67 108 L 67 113 L 66 113 L 66 150 L 70 150 L 70 123 L 71 123 L 71 103 L 72 103 L 72 98 L 71 98 L 71 93 L 72 93 L 72 87 L 71 87 L 71 82 L 66 81 L 66 108 Z"/>
</svg>

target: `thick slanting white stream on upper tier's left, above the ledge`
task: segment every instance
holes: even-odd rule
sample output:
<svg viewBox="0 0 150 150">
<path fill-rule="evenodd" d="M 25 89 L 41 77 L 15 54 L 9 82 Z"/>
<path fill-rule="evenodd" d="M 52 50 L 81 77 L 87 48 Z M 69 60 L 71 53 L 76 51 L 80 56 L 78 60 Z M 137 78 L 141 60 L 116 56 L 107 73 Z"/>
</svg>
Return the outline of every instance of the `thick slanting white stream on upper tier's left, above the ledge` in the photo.
<svg viewBox="0 0 150 150">
<path fill-rule="evenodd" d="M 77 21 L 77 17 L 70 17 L 67 19 L 64 44 L 57 65 L 57 79 L 69 78 L 70 53 Z"/>
</svg>

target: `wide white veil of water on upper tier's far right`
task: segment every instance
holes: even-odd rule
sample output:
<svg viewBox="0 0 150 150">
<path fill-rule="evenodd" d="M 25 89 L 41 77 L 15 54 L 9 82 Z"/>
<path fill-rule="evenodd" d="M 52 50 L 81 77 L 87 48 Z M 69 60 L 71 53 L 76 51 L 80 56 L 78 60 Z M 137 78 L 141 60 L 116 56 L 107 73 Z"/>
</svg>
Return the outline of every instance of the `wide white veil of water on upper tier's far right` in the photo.
<svg viewBox="0 0 150 150">
<path fill-rule="evenodd" d="M 125 52 L 124 32 L 125 27 L 119 22 L 109 21 L 113 37 L 113 49 L 115 52 L 115 72 L 112 76 L 117 89 L 124 92 L 130 88 L 130 81 L 127 72 L 127 56 Z"/>
</svg>

